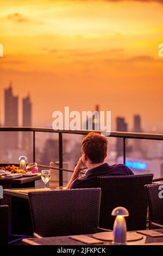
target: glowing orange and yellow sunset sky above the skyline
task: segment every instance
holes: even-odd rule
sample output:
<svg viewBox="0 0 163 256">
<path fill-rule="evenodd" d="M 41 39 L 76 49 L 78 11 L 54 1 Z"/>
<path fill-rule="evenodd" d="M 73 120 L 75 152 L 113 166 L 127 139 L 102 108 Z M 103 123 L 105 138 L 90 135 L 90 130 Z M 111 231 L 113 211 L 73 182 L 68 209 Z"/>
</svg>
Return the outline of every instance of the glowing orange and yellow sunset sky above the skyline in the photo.
<svg viewBox="0 0 163 256">
<path fill-rule="evenodd" d="M 93 110 L 115 118 L 141 114 L 147 132 L 163 132 L 163 1 L 0 0 L 0 106 L 12 81 L 30 93 L 33 125 L 52 113 Z M 20 102 L 21 103 L 21 102 Z M 21 112 L 20 112 L 21 113 Z M 21 120 L 20 120 L 21 121 Z"/>
</svg>

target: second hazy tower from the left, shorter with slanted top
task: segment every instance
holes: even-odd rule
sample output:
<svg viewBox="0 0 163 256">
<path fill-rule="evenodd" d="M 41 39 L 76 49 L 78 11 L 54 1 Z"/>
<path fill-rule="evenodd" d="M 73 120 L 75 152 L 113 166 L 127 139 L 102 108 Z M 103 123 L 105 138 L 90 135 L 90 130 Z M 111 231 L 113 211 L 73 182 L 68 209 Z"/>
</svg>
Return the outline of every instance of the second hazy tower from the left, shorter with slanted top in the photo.
<svg viewBox="0 0 163 256">
<path fill-rule="evenodd" d="M 30 101 L 30 96 L 28 95 L 22 100 L 23 103 L 23 123 L 24 127 L 32 126 L 32 103 Z M 31 132 L 22 133 L 22 148 L 26 149 L 27 153 L 32 147 L 32 134 Z"/>
</svg>

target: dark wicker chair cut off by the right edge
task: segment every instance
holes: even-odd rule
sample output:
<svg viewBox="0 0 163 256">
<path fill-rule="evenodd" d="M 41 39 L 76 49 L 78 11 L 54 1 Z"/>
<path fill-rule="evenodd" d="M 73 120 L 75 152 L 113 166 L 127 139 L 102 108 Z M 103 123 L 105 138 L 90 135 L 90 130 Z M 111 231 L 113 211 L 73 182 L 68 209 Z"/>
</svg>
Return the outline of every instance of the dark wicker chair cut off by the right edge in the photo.
<svg viewBox="0 0 163 256">
<path fill-rule="evenodd" d="M 159 190 L 160 185 L 161 184 L 152 184 L 145 186 L 149 205 L 150 229 L 163 228 L 163 198 L 159 197 L 159 192 L 161 192 Z M 162 189 L 163 186 L 161 187 L 161 190 Z"/>
</svg>

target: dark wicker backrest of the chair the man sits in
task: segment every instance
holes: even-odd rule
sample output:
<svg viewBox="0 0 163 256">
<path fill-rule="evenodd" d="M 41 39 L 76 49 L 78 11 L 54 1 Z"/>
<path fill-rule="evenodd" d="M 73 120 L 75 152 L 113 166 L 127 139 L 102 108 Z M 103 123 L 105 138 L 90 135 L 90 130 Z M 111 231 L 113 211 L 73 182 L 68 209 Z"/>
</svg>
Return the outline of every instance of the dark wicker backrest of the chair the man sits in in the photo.
<svg viewBox="0 0 163 256">
<path fill-rule="evenodd" d="M 128 230 L 146 229 L 148 202 L 145 185 L 151 184 L 153 174 L 99 176 L 98 187 L 102 189 L 99 227 L 112 229 L 115 217 L 111 212 L 117 206 L 128 209 Z"/>
</svg>

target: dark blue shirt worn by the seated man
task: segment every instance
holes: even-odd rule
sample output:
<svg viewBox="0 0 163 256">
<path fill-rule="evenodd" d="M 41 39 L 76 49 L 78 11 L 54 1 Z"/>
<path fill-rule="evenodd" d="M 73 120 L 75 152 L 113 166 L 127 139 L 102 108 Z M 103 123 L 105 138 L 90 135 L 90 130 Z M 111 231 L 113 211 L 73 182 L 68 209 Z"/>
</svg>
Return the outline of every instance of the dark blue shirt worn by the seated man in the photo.
<svg viewBox="0 0 163 256">
<path fill-rule="evenodd" d="M 124 164 L 114 164 L 109 166 L 103 163 L 101 166 L 87 170 L 85 174 L 74 180 L 70 188 L 97 187 L 97 177 L 99 175 L 133 175 L 134 173 Z"/>
</svg>

